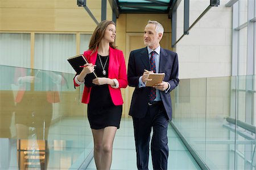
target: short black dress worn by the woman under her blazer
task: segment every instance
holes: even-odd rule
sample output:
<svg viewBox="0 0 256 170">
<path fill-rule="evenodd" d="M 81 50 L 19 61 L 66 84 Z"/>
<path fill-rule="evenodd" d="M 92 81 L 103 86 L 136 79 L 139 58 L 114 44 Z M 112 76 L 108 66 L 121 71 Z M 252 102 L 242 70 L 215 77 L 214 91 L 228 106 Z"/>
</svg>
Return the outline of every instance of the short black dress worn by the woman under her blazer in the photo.
<svg viewBox="0 0 256 170">
<path fill-rule="evenodd" d="M 106 75 L 102 73 L 105 66 Z M 106 64 L 105 64 L 106 63 Z M 98 77 L 108 77 L 109 56 L 97 55 L 95 72 Z M 90 128 L 101 129 L 107 126 L 119 128 L 122 105 L 115 106 L 109 93 L 108 85 L 92 85 L 88 103 L 88 119 Z"/>
</svg>

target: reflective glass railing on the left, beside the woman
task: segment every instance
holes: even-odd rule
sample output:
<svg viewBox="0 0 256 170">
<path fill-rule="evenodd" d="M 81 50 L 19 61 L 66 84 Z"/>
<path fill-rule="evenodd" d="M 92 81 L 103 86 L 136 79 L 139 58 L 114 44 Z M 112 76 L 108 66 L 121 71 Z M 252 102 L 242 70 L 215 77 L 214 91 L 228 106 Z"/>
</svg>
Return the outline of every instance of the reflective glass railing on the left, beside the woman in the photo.
<svg viewBox="0 0 256 170">
<path fill-rule="evenodd" d="M 79 169 L 93 148 L 74 74 L 0 65 L 0 169 Z"/>
</svg>

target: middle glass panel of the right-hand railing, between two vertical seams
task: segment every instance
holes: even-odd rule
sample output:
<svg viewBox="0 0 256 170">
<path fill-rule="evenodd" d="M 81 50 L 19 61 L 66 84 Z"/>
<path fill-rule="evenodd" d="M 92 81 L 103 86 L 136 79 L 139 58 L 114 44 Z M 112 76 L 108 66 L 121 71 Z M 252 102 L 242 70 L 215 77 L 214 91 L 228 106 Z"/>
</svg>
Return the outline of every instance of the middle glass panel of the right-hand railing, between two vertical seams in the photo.
<svg viewBox="0 0 256 170">
<path fill-rule="evenodd" d="M 233 169 L 230 151 L 234 151 L 234 134 L 226 121 L 230 117 L 230 83 L 231 77 L 207 78 L 205 163 L 210 169 Z"/>
</svg>

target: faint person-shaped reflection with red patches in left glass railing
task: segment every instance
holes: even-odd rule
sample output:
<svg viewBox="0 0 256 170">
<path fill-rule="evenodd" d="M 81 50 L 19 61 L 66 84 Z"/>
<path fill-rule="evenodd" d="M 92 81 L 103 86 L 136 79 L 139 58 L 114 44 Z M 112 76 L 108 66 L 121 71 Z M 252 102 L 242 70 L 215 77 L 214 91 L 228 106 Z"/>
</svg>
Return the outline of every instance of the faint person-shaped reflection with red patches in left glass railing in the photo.
<svg viewBox="0 0 256 170">
<path fill-rule="evenodd" d="M 58 86 L 63 77 L 51 71 L 16 68 L 15 126 L 17 160 L 20 169 L 47 169 L 48 134 L 52 103 L 60 102 Z"/>
</svg>

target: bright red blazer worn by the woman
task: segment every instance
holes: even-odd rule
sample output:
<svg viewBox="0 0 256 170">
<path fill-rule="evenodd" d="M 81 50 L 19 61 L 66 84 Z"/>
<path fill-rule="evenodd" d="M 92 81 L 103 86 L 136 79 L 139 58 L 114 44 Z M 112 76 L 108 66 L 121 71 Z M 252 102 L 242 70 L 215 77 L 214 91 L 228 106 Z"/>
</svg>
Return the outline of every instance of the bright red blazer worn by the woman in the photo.
<svg viewBox="0 0 256 170">
<path fill-rule="evenodd" d="M 92 53 L 92 51 L 85 51 L 84 56 L 89 61 L 89 63 L 95 64 L 97 59 L 97 53 L 98 51 L 94 53 Z M 109 47 L 108 76 L 109 78 L 116 78 L 119 82 L 119 87 L 117 89 L 112 88 L 112 86 L 109 85 L 109 92 L 114 105 L 122 105 L 123 99 L 121 94 L 121 88 L 126 88 L 126 86 L 128 85 L 125 58 L 123 57 L 122 51 L 118 49 L 113 49 L 111 47 Z M 76 84 L 75 79 L 74 84 L 75 86 L 79 86 L 78 84 Z M 89 103 L 90 90 L 92 90 L 92 87 L 88 88 L 87 86 L 84 86 L 82 103 Z"/>
</svg>

